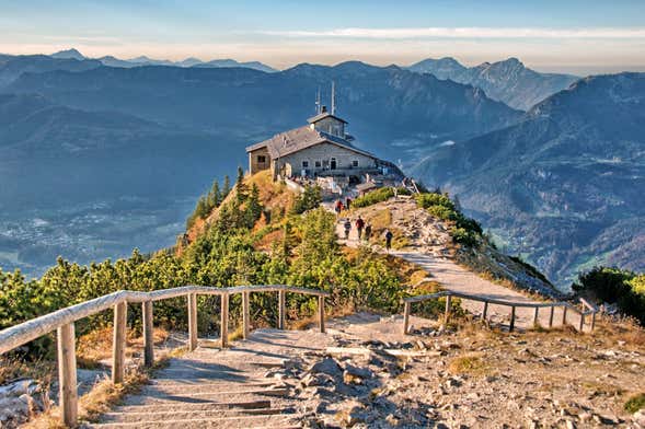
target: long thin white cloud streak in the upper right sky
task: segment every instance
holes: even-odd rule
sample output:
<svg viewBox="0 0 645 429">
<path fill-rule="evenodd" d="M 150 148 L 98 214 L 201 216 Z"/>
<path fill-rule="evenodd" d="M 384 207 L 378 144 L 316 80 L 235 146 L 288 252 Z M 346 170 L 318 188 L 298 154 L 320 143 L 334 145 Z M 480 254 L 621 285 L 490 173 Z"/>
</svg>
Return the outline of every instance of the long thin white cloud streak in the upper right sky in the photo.
<svg viewBox="0 0 645 429">
<path fill-rule="evenodd" d="M 265 35 L 326 38 L 645 38 L 645 28 L 539 28 L 539 27 L 424 27 L 424 28 L 334 28 L 326 31 L 264 31 Z"/>
</svg>

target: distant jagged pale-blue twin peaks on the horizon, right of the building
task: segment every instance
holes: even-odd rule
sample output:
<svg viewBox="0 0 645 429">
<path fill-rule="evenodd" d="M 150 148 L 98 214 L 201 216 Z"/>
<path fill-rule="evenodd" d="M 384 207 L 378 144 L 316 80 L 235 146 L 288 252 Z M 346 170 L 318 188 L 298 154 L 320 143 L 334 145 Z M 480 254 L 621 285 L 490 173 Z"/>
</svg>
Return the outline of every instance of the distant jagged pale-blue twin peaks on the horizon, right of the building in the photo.
<svg viewBox="0 0 645 429">
<path fill-rule="evenodd" d="M 493 100 L 514 108 L 527 111 L 549 95 L 565 90 L 579 78 L 571 74 L 539 73 L 518 60 L 484 62 L 465 67 L 454 58 L 425 59 L 408 67 L 408 70 L 431 73 L 439 79 L 450 79 L 481 88 Z"/>
</svg>

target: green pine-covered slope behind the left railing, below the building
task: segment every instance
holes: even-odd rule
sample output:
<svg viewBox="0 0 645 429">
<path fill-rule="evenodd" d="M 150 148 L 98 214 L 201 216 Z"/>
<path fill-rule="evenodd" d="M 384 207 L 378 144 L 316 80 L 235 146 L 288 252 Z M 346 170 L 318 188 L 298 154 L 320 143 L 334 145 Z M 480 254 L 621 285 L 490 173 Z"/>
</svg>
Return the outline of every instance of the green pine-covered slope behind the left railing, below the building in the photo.
<svg viewBox="0 0 645 429">
<path fill-rule="evenodd" d="M 262 192 L 261 192 L 262 189 Z M 240 181 L 211 208 L 210 222 L 181 250 L 161 250 L 129 258 L 79 265 L 59 258 L 37 280 L 20 271 L 0 270 L 0 329 L 48 312 L 117 290 L 157 290 L 185 285 L 228 287 L 234 285 L 293 285 L 332 292 L 336 311 L 372 308 L 398 311 L 412 268 L 367 250 L 345 253 L 336 243 L 335 216 L 320 208 L 304 215 L 298 197 L 285 185 L 273 184 L 266 174 Z M 279 204 L 278 204 L 279 202 Z M 316 206 L 313 201 L 311 207 Z M 270 297 L 254 295 L 254 324 L 274 318 Z M 233 302 L 239 314 L 239 302 Z M 212 299 L 200 298 L 208 311 Z M 309 314 L 315 303 L 293 295 L 289 311 Z M 156 305 L 156 320 L 166 327 L 182 327 L 184 301 Z M 90 317 L 77 325 L 84 334 L 111 320 L 110 314 Z M 217 322 L 204 317 L 201 329 L 215 332 Z M 30 350 L 43 356 L 51 350 L 51 338 L 33 343 Z M 37 355 L 36 355 L 37 353 Z"/>
</svg>

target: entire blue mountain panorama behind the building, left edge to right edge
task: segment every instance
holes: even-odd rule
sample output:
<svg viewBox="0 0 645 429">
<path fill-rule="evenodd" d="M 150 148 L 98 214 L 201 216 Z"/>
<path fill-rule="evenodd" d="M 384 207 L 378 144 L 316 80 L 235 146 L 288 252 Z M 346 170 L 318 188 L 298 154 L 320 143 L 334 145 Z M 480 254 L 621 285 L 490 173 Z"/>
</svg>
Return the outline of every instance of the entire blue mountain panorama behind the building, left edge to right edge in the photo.
<svg viewBox="0 0 645 429">
<path fill-rule="evenodd" d="M 426 62 L 431 73 L 104 61 L 0 56 L 0 266 L 37 274 L 58 254 L 88 262 L 171 245 L 210 181 L 245 165 L 249 143 L 304 124 L 335 81 L 358 146 L 457 193 L 554 281 L 600 262 L 645 269 L 642 74 L 571 85 L 511 59 L 480 66 L 482 89 L 452 79 L 471 70 L 453 60 Z M 522 108 L 546 100 L 521 112 L 489 93 L 525 96 Z"/>
</svg>

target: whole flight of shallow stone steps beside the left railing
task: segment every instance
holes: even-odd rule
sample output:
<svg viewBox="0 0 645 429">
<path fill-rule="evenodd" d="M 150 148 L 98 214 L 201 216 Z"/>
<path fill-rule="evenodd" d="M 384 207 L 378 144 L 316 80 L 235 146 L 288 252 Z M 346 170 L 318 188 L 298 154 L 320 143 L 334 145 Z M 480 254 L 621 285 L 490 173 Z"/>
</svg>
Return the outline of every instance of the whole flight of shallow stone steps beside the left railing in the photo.
<svg viewBox="0 0 645 429">
<path fill-rule="evenodd" d="M 298 428 L 302 414 L 281 373 L 324 349 L 314 331 L 255 331 L 230 349 L 197 347 L 89 428 Z"/>
</svg>

